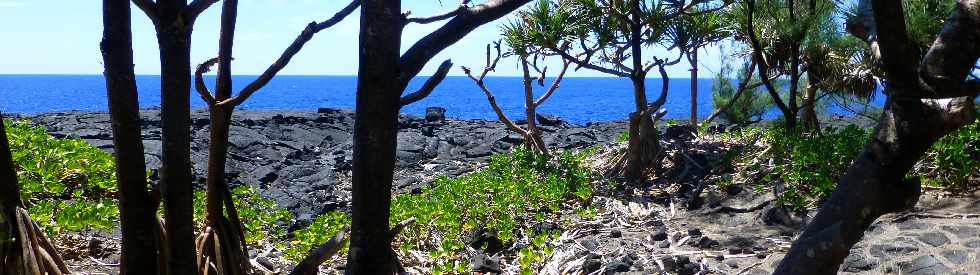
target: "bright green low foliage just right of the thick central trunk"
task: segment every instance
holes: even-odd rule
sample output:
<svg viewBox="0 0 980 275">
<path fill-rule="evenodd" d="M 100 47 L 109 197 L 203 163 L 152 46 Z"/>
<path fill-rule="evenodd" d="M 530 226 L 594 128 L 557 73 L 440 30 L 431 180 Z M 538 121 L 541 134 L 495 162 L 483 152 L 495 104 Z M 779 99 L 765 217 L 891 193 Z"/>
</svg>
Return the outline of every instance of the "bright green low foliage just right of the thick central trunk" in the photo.
<svg viewBox="0 0 980 275">
<path fill-rule="evenodd" d="M 475 230 L 494 231 L 505 243 L 539 237 L 524 227 L 554 221 L 564 203 L 592 197 L 592 174 L 583 166 L 584 157 L 564 152 L 549 160 L 517 149 L 491 157 L 481 171 L 441 177 L 420 194 L 396 196 L 392 224 L 417 219 L 400 235 L 401 248 L 430 251 L 437 262 L 433 273 L 452 273 L 466 270 L 466 263 L 459 261 L 466 247 L 464 236 Z"/>
</svg>

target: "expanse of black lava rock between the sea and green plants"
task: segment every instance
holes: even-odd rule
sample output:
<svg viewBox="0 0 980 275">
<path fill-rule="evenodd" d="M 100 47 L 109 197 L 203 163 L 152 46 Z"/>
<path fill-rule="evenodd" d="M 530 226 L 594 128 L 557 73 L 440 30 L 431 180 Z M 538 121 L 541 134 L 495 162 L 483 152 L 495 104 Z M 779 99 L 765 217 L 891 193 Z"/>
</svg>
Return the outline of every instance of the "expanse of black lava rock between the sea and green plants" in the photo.
<svg viewBox="0 0 980 275">
<path fill-rule="evenodd" d="M 437 110 L 439 111 L 439 110 Z M 519 135 L 503 124 L 485 120 L 453 120 L 429 113 L 399 118 L 394 188 L 411 192 L 435 175 L 459 176 L 478 169 L 488 157 L 521 144 Z M 156 171 L 162 155 L 160 111 L 142 110 L 147 169 Z M 113 152 L 107 113 L 59 112 L 26 117 L 56 137 L 77 137 Z M 440 121 L 432 123 L 431 121 Z M 586 148 L 615 140 L 625 131 L 622 122 L 568 124 L 557 117 L 539 116 L 544 139 L 562 149 Z M 191 162 L 195 182 L 203 182 L 207 167 L 208 123 L 204 110 L 193 111 Z M 350 200 L 350 169 L 354 125 L 350 110 L 238 110 L 232 118 L 227 169 L 238 184 L 261 189 L 297 216 L 299 223 L 331 210 L 346 210 Z"/>
</svg>

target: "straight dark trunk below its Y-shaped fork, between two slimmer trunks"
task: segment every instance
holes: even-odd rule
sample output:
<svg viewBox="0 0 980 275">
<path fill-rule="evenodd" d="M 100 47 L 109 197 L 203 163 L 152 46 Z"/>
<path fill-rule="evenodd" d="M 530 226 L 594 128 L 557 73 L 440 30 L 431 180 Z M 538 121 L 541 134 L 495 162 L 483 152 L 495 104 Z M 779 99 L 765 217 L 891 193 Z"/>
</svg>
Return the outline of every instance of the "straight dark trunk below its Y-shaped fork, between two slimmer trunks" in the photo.
<svg viewBox="0 0 980 275">
<path fill-rule="evenodd" d="M 179 16 L 179 13 L 178 15 Z M 190 45 L 189 25 L 171 22 L 158 27 L 160 46 L 160 124 L 163 165 L 160 185 L 167 229 L 170 274 L 196 274 L 194 251 L 194 188 L 190 160 Z"/>
</svg>

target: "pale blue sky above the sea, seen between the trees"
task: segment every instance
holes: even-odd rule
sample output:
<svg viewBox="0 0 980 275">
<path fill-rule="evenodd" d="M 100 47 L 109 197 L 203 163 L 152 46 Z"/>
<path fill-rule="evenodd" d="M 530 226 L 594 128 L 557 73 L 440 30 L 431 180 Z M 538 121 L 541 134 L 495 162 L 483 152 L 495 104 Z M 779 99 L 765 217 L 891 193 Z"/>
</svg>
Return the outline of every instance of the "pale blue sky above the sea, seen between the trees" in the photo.
<svg viewBox="0 0 980 275">
<path fill-rule="evenodd" d="M 473 1 L 480 3 L 482 1 Z M 261 73 L 296 35 L 311 21 L 329 18 L 347 0 L 241 0 L 239 3 L 233 73 Z M 455 0 L 406 0 L 402 7 L 416 15 L 428 15 L 452 8 Z M 86 0 L 0 0 L 0 74 L 101 74 L 99 40 L 102 36 L 102 7 Z M 220 4 L 203 13 L 194 26 L 191 58 L 197 64 L 217 53 Z M 280 74 L 355 75 L 357 73 L 357 33 L 359 13 L 318 33 Z M 421 75 L 431 75 L 438 64 L 451 58 L 455 66 L 450 75 L 461 75 L 460 65 L 484 65 L 484 47 L 499 38 L 499 27 L 507 18 L 484 25 L 436 56 Z M 411 46 L 439 23 L 406 27 L 402 47 Z M 133 46 L 137 74 L 159 74 L 156 36 L 149 19 L 133 7 Z M 664 54 L 662 50 L 655 53 Z M 711 77 L 719 67 L 717 48 L 700 57 L 700 77 Z M 501 61 L 492 76 L 514 76 L 520 72 L 512 60 Z M 684 62 L 669 68 L 672 77 L 688 77 Z M 569 76 L 606 76 L 585 69 Z M 654 76 L 651 76 L 654 77 Z"/>
</svg>

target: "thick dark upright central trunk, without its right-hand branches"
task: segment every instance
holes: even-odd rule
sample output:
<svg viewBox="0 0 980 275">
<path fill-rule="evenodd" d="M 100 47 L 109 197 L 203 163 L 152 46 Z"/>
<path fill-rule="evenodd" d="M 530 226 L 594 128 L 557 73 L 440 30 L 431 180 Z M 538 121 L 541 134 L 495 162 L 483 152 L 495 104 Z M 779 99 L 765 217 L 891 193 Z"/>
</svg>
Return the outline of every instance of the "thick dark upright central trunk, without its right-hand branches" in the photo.
<svg viewBox="0 0 980 275">
<path fill-rule="evenodd" d="M 400 0 L 361 3 L 347 274 L 393 274 L 389 209 L 404 84 L 398 81 Z"/>
</svg>

